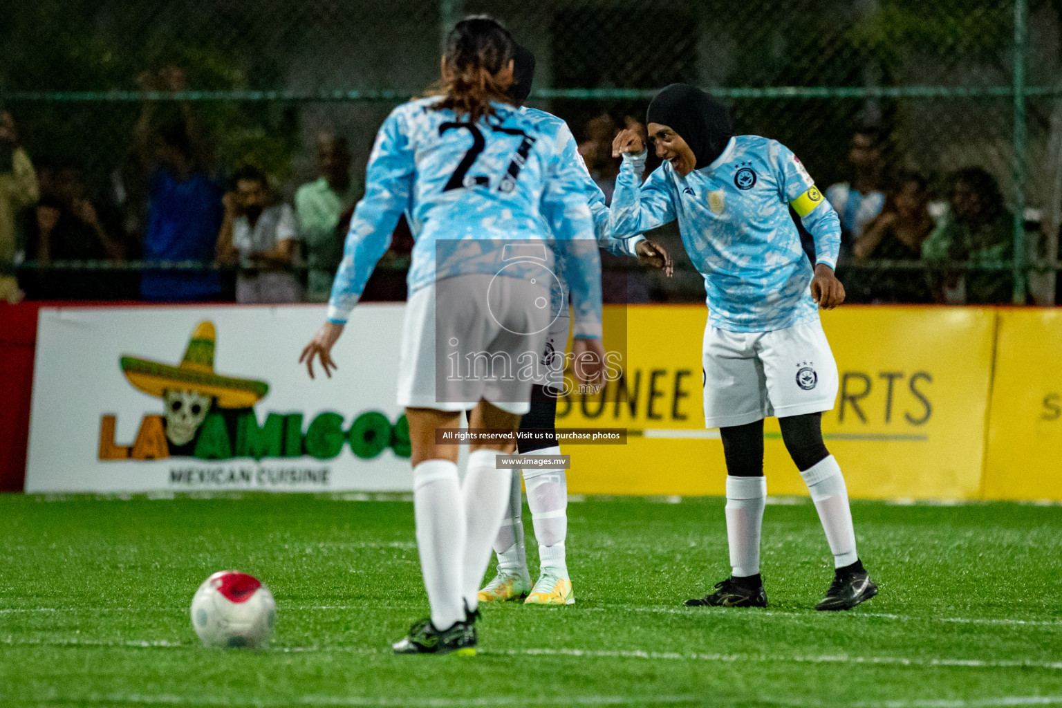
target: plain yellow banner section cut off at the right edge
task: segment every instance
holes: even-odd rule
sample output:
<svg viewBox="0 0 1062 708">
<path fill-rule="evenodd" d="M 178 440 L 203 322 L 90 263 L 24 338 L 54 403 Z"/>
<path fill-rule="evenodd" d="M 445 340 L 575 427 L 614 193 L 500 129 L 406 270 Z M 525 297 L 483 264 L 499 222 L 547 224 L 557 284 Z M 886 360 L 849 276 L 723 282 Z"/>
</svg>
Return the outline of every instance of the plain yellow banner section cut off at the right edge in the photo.
<svg viewBox="0 0 1062 708">
<path fill-rule="evenodd" d="M 1062 312 L 999 310 L 984 499 L 1062 500 Z"/>
</svg>

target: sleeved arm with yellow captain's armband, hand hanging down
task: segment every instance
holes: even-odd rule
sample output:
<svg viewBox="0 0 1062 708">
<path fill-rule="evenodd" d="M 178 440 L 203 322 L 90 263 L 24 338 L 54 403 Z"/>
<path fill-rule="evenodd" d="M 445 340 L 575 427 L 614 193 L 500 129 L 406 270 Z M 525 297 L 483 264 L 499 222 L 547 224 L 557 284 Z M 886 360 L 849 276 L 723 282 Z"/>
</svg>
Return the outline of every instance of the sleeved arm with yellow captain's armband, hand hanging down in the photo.
<svg viewBox="0 0 1062 708">
<path fill-rule="evenodd" d="M 844 301 L 844 286 L 834 276 L 841 248 L 841 221 L 792 151 L 772 141 L 771 158 L 782 201 L 793 208 L 815 239 L 811 297 L 819 307 L 832 310 Z"/>
</svg>

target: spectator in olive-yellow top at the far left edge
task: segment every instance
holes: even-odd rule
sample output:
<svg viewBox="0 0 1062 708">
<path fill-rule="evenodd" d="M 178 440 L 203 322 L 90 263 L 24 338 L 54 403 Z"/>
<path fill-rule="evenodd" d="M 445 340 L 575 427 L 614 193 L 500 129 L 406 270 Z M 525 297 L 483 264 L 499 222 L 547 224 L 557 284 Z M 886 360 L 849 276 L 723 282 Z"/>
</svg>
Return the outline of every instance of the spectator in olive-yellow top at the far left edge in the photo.
<svg viewBox="0 0 1062 708">
<path fill-rule="evenodd" d="M 18 212 L 37 201 L 37 175 L 18 143 L 15 119 L 0 110 L 0 300 L 18 303 L 22 291 L 15 278 L 19 251 Z"/>
</svg>

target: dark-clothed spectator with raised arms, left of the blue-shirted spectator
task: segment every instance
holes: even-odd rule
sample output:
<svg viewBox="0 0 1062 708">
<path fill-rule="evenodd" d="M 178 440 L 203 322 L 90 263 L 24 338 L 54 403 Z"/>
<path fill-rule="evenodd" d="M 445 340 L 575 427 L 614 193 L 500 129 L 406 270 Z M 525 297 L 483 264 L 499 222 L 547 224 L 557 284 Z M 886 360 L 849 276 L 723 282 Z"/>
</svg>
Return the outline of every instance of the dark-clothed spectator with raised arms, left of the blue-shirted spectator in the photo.
<svg viewBox="0 0 1062 708">
<path fill-rule="evenodd" d="M 112 260 L 124 257 L 120 238 L 107 232 L 87 197 L 81 170 L 69 165 L 41 165 L 40 201 L 27 238 L 27 252 L 40 265 L 53 261 Z M 101 271 L 38 271 L 24 279 L 34 299 L 110 299 L 115 279 Z"/>
</svg>

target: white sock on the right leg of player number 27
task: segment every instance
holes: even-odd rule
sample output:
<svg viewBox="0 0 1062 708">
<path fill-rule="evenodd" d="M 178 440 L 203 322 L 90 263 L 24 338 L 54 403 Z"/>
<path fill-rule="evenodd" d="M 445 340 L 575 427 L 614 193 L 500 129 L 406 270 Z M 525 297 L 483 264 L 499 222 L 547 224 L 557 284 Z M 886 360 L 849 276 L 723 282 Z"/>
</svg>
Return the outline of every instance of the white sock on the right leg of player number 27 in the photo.
<svg viewBox="0 0 1062 708">
<path fill-rule="evenodd" d="M 468 455 L 468 471 L 461 487 L 465 511 L 464 580 L 468 609 L 476 609 L 483 573 L 491 563 L 491 543 L 498 537 L 506 515 L 512 470 L 497 469 L 497 450 L 476 450 Z"/>
</svg>

